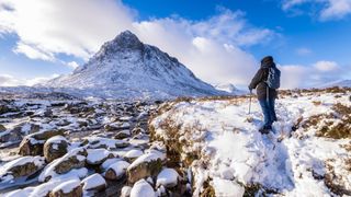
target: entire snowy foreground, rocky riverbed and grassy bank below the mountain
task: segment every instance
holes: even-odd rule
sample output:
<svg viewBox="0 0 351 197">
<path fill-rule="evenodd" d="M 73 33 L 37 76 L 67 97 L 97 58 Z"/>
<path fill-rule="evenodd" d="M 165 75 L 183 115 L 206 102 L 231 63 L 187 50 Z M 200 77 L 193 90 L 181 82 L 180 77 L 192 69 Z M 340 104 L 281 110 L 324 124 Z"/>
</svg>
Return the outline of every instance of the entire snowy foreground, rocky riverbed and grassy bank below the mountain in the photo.
<svg viewBox="0 0 351 197">
<path fill-rule="evenodd" d="M 351 196 L 350 89 L 248 96 L 2 100 L 0 196 Z"/>
</svg>

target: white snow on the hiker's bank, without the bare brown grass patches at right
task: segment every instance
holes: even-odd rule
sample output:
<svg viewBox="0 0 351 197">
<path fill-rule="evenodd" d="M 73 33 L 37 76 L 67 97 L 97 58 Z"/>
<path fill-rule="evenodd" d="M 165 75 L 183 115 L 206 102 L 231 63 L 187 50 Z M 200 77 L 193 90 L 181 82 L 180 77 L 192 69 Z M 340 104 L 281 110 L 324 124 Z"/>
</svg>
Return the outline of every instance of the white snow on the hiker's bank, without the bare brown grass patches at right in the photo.
<svg viewBox="0 0 351 197">
<path fill-rule="evenodd" d="M 171 120 L 176 126 L 181 125 L 179 142 L 185 144 L 181 157 L 194 152 L 200 157 L 191 165 L 194 196 L 200 195 L 208 179 L 219 196 L 240 196 L 240 184 L 260 184 L 286 196 L 330 196 L 324 179 L 315 178 L 312 171 L 324 175 L 326 163 L 331 162 L 338 182 L 350 189 L 346 161 L 351 152 L 341 147 L 350 144 L 351 140 L 316 137 L 324 121 L 308 130 L 301 127 L 291 132 L 291 128 L 298 118 L 306 120 L 314 115 L 333 113 L 333 104 L 351 106 L 348 94 L 335 95 L 306 93 L 278 100 L 279 121 L 273 125 L 274 132 L 267 136 L 258 132 L 263 117 L 256 101 L 250 115 L 253 120 L 247 121 L 249 99 L 245 97 L 173 103 L 171 109 L 152 119 L 151 125 L 156 136 L 165 141 L 174 136 L 161 127 L 162 123 Z"/>
</svg>

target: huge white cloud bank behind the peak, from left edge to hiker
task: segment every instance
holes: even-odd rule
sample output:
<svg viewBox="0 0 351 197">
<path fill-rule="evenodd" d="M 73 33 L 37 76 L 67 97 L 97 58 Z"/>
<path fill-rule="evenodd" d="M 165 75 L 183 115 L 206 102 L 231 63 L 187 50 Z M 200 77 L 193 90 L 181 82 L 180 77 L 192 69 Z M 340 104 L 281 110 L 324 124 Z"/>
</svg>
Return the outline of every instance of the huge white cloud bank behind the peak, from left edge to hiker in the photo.
<svg viewBox="0 0 351 197">
<path fill-rule="evenodd" d="M 143 42 L 179 58 L 199 78 L 216 83 L 247 83 L 256 60 L 240 47 L 276 36 L 250 25 L 244 12 L 224 8 L 202 21 L 179 16 L 136 21 L 134 11 L 115 0 L 2 0 L 0 4 L 11 8 L 0 10 L 4 19 L 0 33 L 19 35 L 14 51 L 29 58 L 56 60 L 63 53 L 87 60 L 104 42 L 128 28 Z"/>
</svg>

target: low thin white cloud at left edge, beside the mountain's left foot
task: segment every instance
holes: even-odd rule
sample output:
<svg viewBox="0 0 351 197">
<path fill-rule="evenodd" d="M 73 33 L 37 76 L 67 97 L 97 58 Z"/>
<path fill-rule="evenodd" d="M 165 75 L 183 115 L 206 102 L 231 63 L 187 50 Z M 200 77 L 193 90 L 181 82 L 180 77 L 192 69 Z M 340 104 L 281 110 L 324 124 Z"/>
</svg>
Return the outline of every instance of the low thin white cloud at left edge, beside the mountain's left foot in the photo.
<svg viewBox="0 0 351 197">
<path fill-rule="evenodd" d="M 32 86 L 37 83 L 43 83 L 50 79 L 57 78 L 58 74 L 52 74 L 49 77 L 37 77 L 32 79 L 16 79 L 10 74 L 0 74 L 0 86 L 18 86 L 18 85 L 29 85 Z"/>
</svg>

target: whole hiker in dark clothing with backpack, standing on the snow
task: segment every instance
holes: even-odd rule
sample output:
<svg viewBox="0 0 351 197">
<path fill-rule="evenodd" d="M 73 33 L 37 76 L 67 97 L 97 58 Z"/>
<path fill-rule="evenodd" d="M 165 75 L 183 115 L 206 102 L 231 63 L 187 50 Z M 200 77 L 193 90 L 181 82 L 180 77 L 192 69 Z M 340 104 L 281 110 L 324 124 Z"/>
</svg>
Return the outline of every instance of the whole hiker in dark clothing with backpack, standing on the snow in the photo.
<svg viewBox="0 0 351 197">
<path fill-rule="evenodd" d="M 256 89 L 264 116 L 264 125 L 259 129 L 261 134 L 269 134 L 272 124 L 276 121 L 274 103 L 278 97 L 276 89 L 280 88 L 280 76 L 281 71 L 276 68 L 273 57 L 267 56 L 261 60 L 261 68 L 249 85 L 250 93 Z"/>
</svg>

